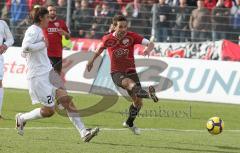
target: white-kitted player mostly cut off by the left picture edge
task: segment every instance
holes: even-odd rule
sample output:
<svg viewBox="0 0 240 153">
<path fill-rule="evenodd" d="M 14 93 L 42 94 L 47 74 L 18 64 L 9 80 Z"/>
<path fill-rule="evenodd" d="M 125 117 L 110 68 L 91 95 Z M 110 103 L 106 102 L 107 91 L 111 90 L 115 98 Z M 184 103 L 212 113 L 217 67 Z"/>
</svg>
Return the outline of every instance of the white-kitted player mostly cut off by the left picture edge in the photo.
<svg viewBox="0 0 240 153">
<path fill-rule="evenodd" d="M 2 79 L 3 79 L 3 56 L 2 54 L 6 52 L 8 47 L 13 44 L 13 36 L 9 30 L 7 23 L 3 20 L 0 20 L 0 119 L 3 119 L 2 112 L 2 103 L 3 103 L 3 87 L 2 87 Z"/>
</svg>

